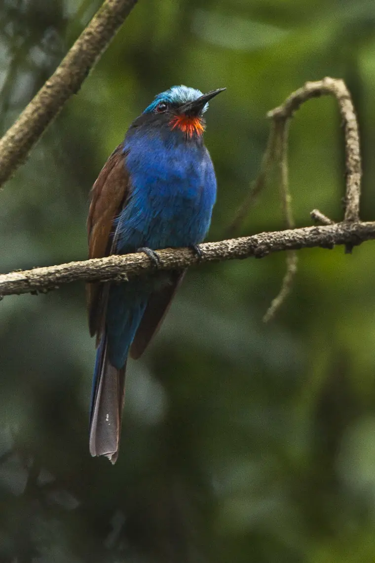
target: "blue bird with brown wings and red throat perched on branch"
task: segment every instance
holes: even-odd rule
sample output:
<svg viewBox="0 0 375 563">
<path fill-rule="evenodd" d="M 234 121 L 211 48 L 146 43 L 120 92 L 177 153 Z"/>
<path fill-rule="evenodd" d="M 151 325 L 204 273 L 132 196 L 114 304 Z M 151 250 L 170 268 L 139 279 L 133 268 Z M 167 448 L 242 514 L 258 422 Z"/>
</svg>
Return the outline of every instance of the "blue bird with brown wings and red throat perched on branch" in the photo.
<svg viewBox="0 0 375 563">
<path fill-rule="evenodd" d="M 119 453 L 128 357 L 139 358 L 159 329 L 185 270 L 157 271 L 162 248 L 198 244 L 210 227 L 216 176 L 203 141 L 206 94 L 173 86 L 137 117 L 103 166 L 90 193 L 89 258 L 145 252 L 155 266 L 127 282 L 88 283 L 96 336 L 89 450 L 115 463 Z"/>
</svg>

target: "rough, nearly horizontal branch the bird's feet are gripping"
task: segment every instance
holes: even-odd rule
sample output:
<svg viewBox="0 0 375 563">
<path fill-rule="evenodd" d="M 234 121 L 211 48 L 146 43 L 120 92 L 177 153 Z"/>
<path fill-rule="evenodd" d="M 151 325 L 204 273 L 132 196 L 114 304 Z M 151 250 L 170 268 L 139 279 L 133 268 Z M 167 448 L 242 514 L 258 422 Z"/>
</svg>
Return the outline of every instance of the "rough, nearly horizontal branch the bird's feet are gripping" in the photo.
<svg viewBox="0 0 375 563">
<path fill-rule="evenodd" d="M 342 221 L 335 225 L 288 229 L 201 244 L 202 258 L 188 248 L 166 248 L 157 251 L 160 258 L 158 269 L 184 269 L 198 262 L 217 262 L 251 256 L 263 258 L 272 252 L 301 248 L 332 248 L 336 244 L 357 245 L 371 239 L 375 239 L 375 222 Z M 0 275 L 0 296 L 45 293 L 56 289 L 58 285 L 76 280 L 125 282 L 134 276 L 155 271 L 154 269 L 150 258 L 143 253 L 135 253 L 12 272 Z"/>
</svg>

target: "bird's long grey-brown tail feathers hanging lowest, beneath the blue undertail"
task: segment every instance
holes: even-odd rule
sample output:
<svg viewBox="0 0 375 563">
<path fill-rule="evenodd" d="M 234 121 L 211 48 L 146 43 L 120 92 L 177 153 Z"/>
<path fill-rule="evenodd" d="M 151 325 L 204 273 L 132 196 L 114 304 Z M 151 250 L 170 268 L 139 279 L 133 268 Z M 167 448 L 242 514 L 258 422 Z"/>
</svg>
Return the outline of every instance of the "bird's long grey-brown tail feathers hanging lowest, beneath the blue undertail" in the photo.
<svg viewBox="0 0 375 563">
<path fill-rule="evenodd" d="M 119 453 L 121 414 L 124 403 L 125 365 L 116 369 L 107 353 L 107 337 L 98 347 L 90 412 L 90 453 L 106 455 L 112 463 Z"/>
</svg>

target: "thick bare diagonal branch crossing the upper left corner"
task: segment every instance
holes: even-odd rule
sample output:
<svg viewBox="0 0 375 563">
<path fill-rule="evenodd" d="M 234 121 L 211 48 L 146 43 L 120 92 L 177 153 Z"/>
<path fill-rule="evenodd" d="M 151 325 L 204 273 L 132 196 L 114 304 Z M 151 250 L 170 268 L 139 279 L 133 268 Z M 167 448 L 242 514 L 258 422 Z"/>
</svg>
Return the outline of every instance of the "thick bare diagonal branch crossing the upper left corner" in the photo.
<svg viewBox="0 0 375 563">
<path fill-rule="evenodd" d="M 106 0 L 20 117 L 0 140 L 0 186 L 25 160 L 84 79 L 137 0 Z"/>
</svg>

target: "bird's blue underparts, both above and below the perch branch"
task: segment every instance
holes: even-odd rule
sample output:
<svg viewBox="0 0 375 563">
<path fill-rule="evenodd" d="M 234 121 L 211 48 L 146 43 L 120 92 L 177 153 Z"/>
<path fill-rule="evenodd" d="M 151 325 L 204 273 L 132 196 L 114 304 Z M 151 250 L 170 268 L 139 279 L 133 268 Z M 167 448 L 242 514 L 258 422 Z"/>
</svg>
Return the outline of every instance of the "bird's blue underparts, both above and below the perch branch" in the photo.
<svg viewBox="0 0 375 563">
<path fill-rule="evenodd" d="M 185 141 L 177 133 L 151 133 L 130 129 L 125 138 L 130 190 L 115 222 L 119 254 L 141 247 L 198 244 L 209 230 L 216 198 L 209 153 L 202 144 Z M 109 358 L 118 369 L 126 361 L 150 294 L 169 283 L 168 274 L 160 275 L 111 284 L 106 330 Z"/>
</svg>

